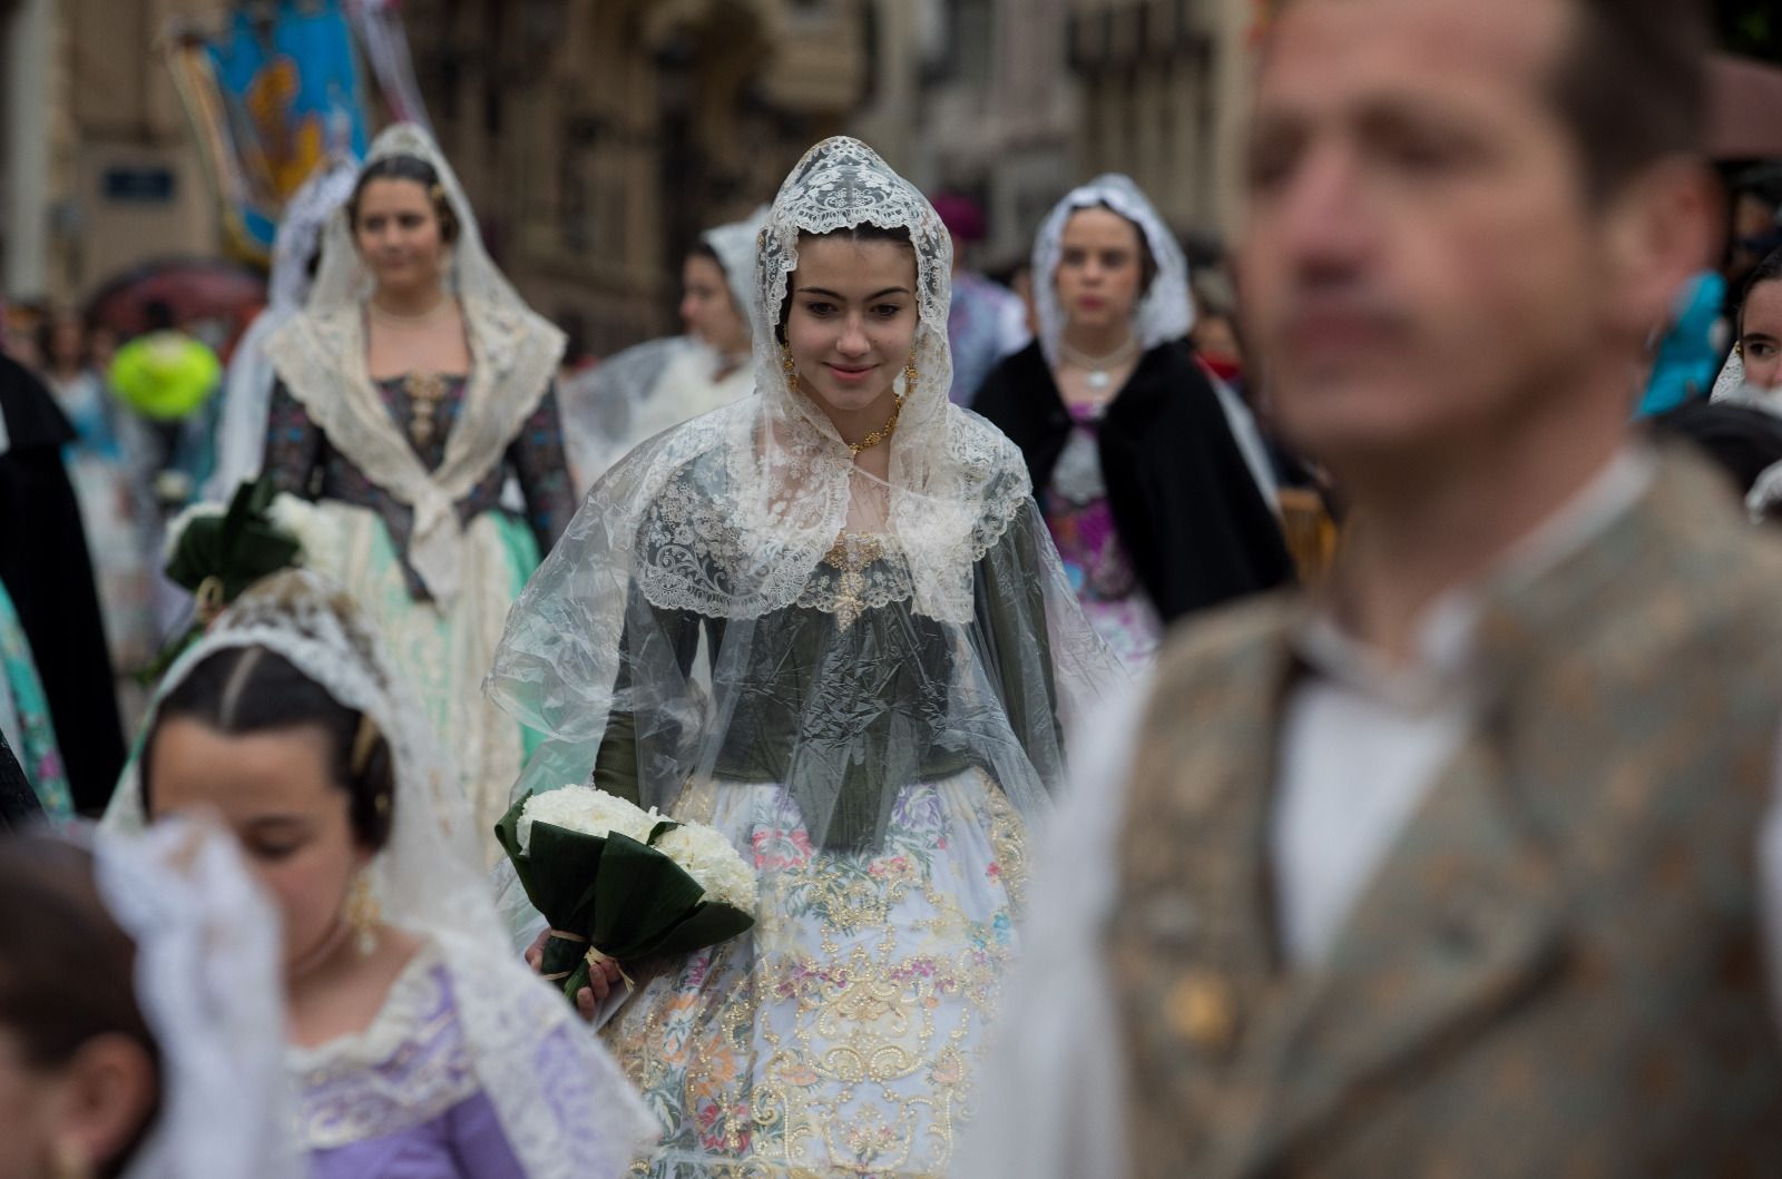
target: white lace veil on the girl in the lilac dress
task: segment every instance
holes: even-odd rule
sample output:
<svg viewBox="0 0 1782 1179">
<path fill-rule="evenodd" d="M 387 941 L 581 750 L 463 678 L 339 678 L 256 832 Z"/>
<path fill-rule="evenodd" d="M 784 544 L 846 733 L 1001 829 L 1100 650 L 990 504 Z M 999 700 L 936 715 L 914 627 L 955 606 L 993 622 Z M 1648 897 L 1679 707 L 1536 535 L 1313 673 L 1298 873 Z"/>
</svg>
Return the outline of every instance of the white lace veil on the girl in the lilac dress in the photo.
<svg viewBox="0 0 1782 1179">
<path fill-rule="evenodd" d="M 526 1174 L 618 1174 L 656 1133 L 654 1120 L 568 1004 L 513 955 L 478 869 L 467 809 L 451 787 L 446 746 L 390 671 L 378 634 L 324 577 L 278 573 L 237 598 L 175 663 L 159 698 L 214 654 L 248 646 L 287 659 L 342 705 L 371 718 L 388 743 L 396 796 L 388 842 L 371 866 L 372 896 L 385 921 L 440 947 L 467 1053 Z M 143 787 L 134 766 L 119 793 L 125 801 L 107 823 L 141 823 Z"/>
</svg>

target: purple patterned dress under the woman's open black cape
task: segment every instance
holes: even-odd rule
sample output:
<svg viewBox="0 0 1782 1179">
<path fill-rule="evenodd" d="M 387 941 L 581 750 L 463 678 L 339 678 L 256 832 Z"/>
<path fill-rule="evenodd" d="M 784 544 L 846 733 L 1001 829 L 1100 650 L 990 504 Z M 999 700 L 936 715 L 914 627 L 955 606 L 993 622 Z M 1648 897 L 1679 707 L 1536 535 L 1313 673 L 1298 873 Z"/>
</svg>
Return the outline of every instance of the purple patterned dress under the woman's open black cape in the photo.
<svg viewBox="0 0 1782 1179">
<path fill-rule="evenodd" d="M 1114 527 L 1096 442 L 1105 408 L 1069 410 L 1071 438 L 1051 470 L 1051 486 L 1039 495 L 1039 506 L 1089 623 L 1128 670 L 1139 671 L 1157 655 L 1164 622 L 1139 584 L 1132 556 Z"/>
</svg>

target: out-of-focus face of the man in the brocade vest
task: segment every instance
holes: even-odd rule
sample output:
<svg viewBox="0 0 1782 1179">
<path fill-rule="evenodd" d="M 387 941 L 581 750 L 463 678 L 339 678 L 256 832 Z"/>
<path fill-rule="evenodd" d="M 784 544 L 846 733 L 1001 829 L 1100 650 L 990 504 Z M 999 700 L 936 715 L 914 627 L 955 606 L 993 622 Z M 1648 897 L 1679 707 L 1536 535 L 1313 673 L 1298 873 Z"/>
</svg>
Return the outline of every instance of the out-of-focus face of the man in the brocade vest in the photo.
<svg viewBox="0 0 1782 1179">
<path fill-rule="evenodd" d="M 1287 438 L 1404 459 L 1541 413 L 1661 322 L 1552 98 L 1565 0 L 1297 0 L 1247 148 L 1244 324 Z M 1340 472 L 1338 472 L 1340 474 Z"/>
</svg>

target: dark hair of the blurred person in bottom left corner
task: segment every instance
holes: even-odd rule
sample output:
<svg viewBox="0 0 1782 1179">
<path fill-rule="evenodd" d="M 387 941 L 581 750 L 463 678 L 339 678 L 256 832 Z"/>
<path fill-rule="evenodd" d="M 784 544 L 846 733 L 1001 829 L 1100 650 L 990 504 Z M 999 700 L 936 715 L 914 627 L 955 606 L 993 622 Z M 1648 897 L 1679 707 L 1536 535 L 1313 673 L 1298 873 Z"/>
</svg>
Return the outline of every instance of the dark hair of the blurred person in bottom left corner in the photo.
<svg viewBox="0 0 1782 1179">
<path fill-rule="evenodd" d="M 53 1070 L 84 1044 L 119 1035 L 160 1070 L 160 1047 L 135 999 L 135 942 L 105 908 L 93 853 L 48 835 L 0 839 L 0 1026 L 25 1063 Z M 159 1083 L 157 1083 L 159 1088 Z M 118 1175 L 159 1117 L 100 1174 Z"/>
</svg>

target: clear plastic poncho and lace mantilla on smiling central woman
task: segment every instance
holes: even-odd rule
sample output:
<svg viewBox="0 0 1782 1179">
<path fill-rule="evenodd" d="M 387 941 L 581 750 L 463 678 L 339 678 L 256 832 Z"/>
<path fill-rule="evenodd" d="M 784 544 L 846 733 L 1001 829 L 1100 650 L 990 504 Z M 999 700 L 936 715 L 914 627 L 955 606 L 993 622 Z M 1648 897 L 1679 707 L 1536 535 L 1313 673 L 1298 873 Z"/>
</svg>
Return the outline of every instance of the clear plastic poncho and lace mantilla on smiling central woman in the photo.
<svg viewBox="0 0 1782 1179">
<path fill-rule="evenodd" d="M 777 324 L 800 240 L 914 246 L 920 326 L 864 474 L 789 386 Z M 900 791 L 982 769 L 1028 819 L 1069 720 L 1121 677 L 1083 620 L 1019 451 L 946 399 L 952 246 L 928 201 L 838 137 L 761 232 L 756 392 L 633 451 L 508 618 L 488 680 L 549 734 L 519 789 L 593 780 L 672 810 L 691 784 L 784 787 L 813 844 L 877 846 Z"/>
</svg>

